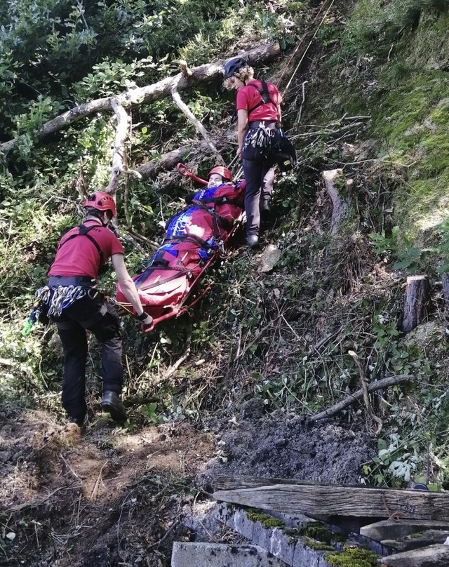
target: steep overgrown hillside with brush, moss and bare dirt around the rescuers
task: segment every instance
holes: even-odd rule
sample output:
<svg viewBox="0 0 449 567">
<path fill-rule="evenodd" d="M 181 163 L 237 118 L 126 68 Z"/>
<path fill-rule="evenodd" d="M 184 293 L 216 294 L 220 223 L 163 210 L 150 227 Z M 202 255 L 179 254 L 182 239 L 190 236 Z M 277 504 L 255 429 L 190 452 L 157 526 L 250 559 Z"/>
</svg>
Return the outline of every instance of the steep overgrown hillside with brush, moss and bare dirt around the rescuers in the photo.
<svg viewBox="0 0 449 567">
<path fill-rule="evenodd" d="M 0 178 L 0 564 L 166 566 L 173 540 L 194 537 L 182 519 L 223 472 L 447 488 L 447 2 L 23 0 L 0 22 L 0 147 L 13 142 Z M 21 330 L 83 190 L 107 185 L 116 121 L 96 112 L 46 137 L 39 128 L 174 75 L 180 58 L 194 67 L 274 40 L 281 54 L 257 74 L 279 81 L 299 163 L 277 176 L 262 251 L 236 234 L 205 298 L 152 333 L 123 317 L 125 427 L 100 413 L 92 341 L 80 436 L 60 406 L 55 328 Z M 237 173 L 234 93 L 215 78 L 182 98 Z M 131 169 L 179 147 L 200 176 L 214 164 L 170 98 L 128 112 Z M 341 217 L 323 179 L 335 169 Z M 172 168 L 122 177 L 137 274 L 192 184 Z M 265 272 L 268 244 L 280 255 Z M 426 317 L 406 334 L 406 278 L 422 274 Z M 370 407 L 311 421 L 361 387 L 360 368 L 368 382 L 403 381 Z"/>
</svg>

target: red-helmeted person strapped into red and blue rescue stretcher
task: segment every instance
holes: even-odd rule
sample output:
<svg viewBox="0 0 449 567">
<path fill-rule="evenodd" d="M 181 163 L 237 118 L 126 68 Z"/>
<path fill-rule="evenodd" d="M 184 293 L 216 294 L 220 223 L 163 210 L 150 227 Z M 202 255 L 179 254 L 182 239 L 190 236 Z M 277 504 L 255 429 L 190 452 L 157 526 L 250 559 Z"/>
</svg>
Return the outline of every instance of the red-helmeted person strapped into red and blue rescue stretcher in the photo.
<svg viewBox="0 0 449 567">
<path fill-rule="evenodd" d="M 210 262 L 225 253 L 227 240 L 243 216 L 245 182 L 232 182 L 227 168 L 213 168 L 207 182 L 188 173 L 183 164 L 178 171 L 207 187 L 186 196 L 189 206 L 168 221 L 162 245 L 145 272 L 133 278 L 142 306 L 153 319 L 146 331 L 163 319 L 179 316 L 199 299 L 192 301 L 192 288 Z M 133 312 L 120 285 L 116 302 Z"/>
</svg>

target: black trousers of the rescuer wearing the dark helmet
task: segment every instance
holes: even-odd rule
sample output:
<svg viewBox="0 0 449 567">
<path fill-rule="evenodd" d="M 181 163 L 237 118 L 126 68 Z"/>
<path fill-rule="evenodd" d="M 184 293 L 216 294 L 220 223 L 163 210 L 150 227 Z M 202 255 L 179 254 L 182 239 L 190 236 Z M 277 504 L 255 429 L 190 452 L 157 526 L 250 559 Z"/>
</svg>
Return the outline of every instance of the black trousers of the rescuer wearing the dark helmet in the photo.
<svg viewBox="0 0 449 567">
<path fill-rule="evenodd" d="M 272 200 L 274 165 L 267 160 L 242 159 L 245 175 L 246 234 L 259 234 L 260 208 Z"/>
</svg>

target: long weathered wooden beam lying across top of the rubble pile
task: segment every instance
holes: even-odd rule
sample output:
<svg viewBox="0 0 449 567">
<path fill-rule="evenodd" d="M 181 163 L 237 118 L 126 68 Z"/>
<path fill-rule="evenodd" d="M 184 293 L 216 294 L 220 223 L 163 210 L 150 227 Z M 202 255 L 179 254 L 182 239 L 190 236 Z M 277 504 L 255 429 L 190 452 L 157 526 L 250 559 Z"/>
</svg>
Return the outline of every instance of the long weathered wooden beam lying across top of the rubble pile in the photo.
<svg viewBox="0 0 449 567">
<path fill-rule="evenodd" d="M 215 500 L 285 514 L 449 521 L 449 495 L 253 476 L 220 476 Z"/>
</svg>

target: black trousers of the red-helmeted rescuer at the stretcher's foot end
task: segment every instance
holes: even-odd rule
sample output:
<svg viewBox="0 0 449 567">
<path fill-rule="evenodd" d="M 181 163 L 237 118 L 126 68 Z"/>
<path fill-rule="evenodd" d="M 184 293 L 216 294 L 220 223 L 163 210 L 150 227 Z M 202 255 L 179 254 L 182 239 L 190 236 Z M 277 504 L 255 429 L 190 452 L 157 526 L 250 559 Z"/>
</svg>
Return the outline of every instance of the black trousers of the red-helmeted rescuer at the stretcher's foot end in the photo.
<svg viewBox="0 0 449 567">
<path fill-rule="evenodd" d="M 86 330 L 91 331 L 102 345 L 103 392 L 121 393 L 123 385 L 120 319 L 116 309 L 105 302 L 99 293 L 91 299 L 85 295 L 52 317 L 64 349 L 64 383 L 62 406 L 71 418 L 86 415 L 86 360 L 88 354 Z"/>
</svg>

